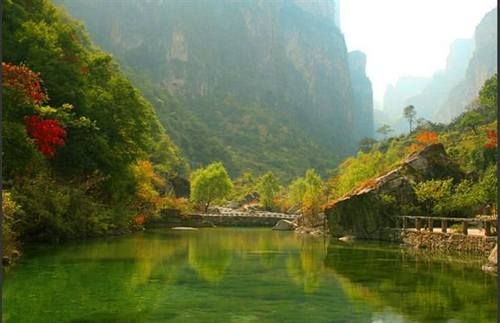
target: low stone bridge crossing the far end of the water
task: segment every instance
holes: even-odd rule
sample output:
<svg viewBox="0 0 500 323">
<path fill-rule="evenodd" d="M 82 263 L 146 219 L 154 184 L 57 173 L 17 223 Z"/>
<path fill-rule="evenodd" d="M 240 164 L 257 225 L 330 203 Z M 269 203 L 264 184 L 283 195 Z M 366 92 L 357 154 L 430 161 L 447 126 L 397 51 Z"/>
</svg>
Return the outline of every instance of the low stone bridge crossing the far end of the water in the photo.
<svg viewBox="0 0 500 323">
<path fill-rule="evenodd" d="M 298 215 L 274 212 L 194 213 L 187 216 L 162 213 L 152 227 L 273 227 L 281 219 L 294 220 Z"/>
</svg>

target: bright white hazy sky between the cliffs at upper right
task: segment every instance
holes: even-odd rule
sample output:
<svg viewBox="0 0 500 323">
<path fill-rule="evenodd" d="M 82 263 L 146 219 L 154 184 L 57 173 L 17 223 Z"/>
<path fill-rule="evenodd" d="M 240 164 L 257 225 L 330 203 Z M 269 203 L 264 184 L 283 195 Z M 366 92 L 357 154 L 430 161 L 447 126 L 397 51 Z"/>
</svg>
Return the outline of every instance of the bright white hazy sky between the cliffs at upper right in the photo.
<svg viewBox="0 0 500 323">
<path fill-rule="evenodd" d="M 495 0 L 340 0 L 347 48 L 367 55 L 374 99 L 399 76 L 430 76 L 446 65 L 449 46 L 471 38 Z"/>
</svg>

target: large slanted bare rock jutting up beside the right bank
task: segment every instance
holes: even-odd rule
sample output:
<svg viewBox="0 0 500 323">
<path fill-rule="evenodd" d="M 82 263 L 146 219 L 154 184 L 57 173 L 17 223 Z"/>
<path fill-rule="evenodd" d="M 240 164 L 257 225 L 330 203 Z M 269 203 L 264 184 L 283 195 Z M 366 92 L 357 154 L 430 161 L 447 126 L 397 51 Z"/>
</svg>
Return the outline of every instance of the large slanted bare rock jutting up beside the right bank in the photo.
<svg viewBox="0 0 500 323">
<path fill-rule="evenodd" d="M 385 228 L 396 226 L 398 206 L 415 200 L 412 185 L 429 179 L 461 178 L 442 144 L 409 155 L 393 170 L 376 177 L 325 209 L 334 236 L 384 240 Z"/>
</svg>

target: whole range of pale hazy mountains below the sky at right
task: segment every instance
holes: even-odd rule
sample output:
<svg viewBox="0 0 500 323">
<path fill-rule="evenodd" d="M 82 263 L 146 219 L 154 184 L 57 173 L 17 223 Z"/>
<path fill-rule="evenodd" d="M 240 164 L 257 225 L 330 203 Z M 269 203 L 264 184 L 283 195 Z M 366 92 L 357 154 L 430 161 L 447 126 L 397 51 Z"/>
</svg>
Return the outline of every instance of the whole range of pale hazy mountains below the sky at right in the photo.
<svg viewBox="0 0 500 323">
<path fill-rule="evenodd" d="M 497 70 L 497 9 L 487 13 L 474 39 L 457 39 L 450 46 L 446 67 L 429 78 L 402 77 L 389 85 L 384 113 L 396 133 L 407 132 L 403 108 L 413 105 L 418 118 L 450 122 L 464 112 L 481 85 Z"/>
</svg>

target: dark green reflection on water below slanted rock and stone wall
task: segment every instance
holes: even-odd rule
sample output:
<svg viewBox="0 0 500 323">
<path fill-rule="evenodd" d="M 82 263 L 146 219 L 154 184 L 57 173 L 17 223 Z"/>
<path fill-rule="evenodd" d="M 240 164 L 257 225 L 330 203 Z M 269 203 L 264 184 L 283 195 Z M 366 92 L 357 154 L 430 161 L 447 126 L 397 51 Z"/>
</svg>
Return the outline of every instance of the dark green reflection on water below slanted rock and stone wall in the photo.
<svg viewBox="0 0 500 323">
<path fill-rule="evenodd" d="M 449 260 L 449 258 L 448 258 Z M 325 260 L 351 299 L 419 322 L 496 321 L 496 280 L 477 258 L 444 261 L 377 243 L 332 244 Z"/>
</svg>

